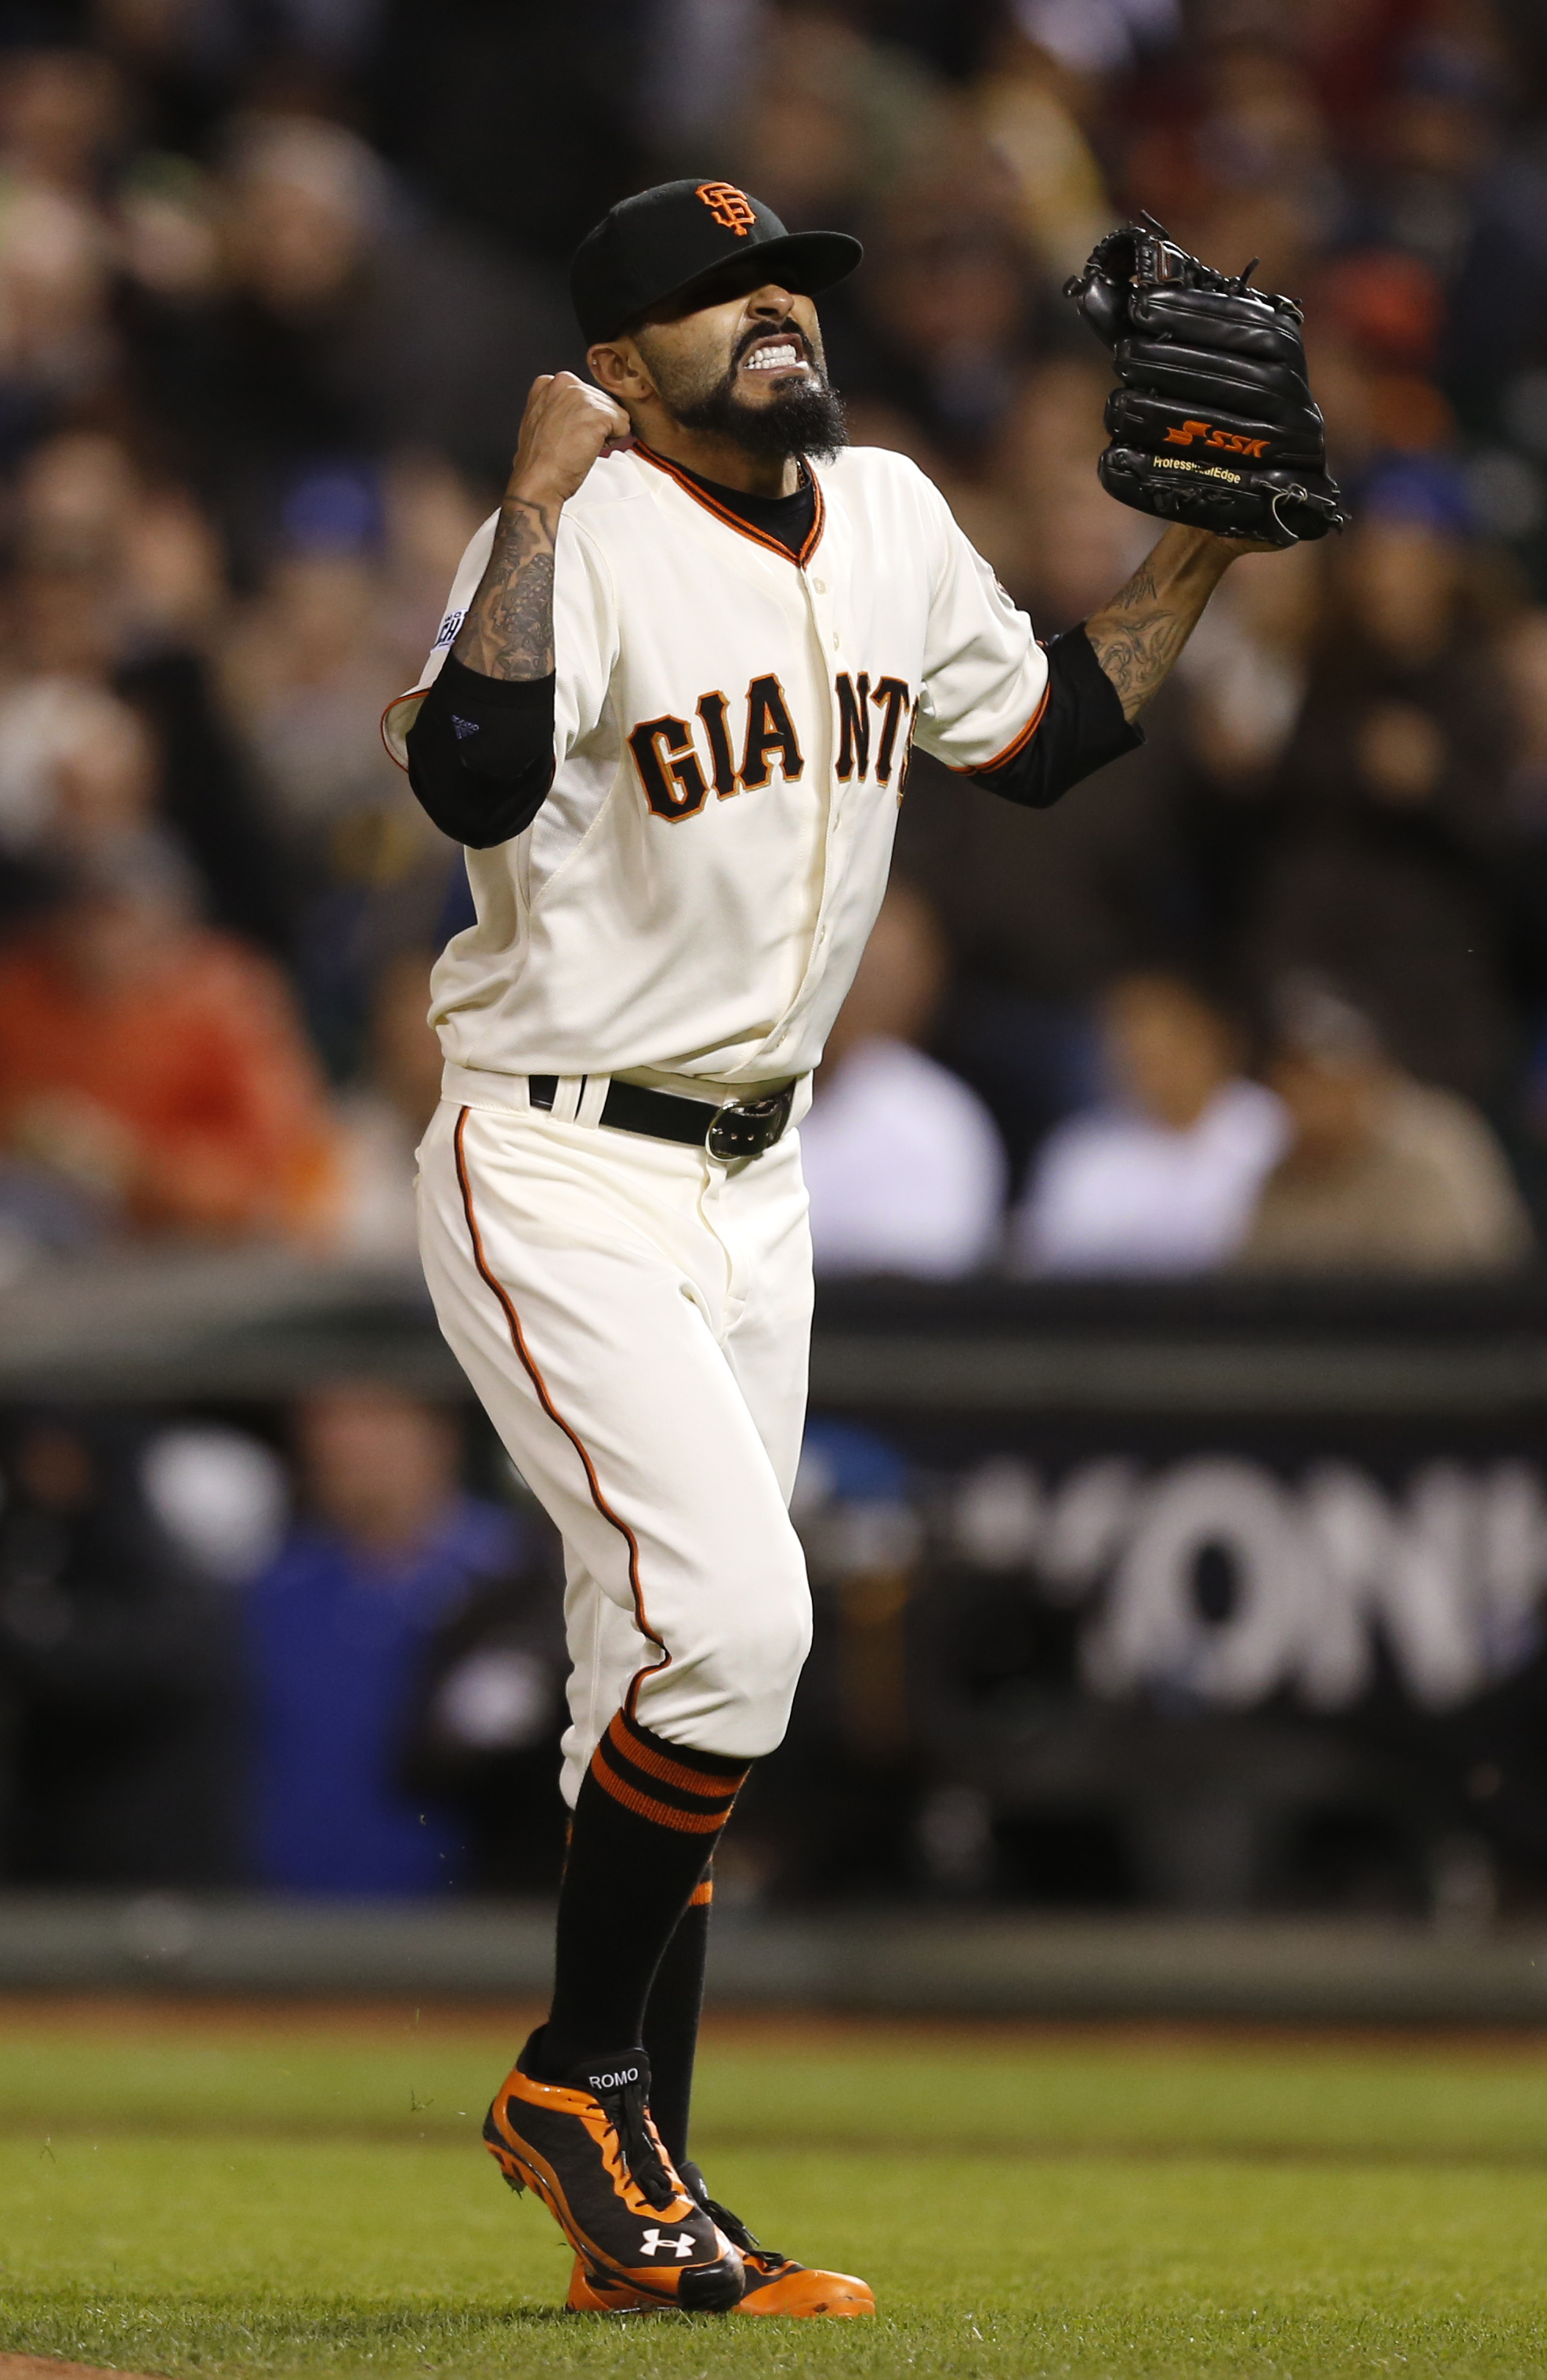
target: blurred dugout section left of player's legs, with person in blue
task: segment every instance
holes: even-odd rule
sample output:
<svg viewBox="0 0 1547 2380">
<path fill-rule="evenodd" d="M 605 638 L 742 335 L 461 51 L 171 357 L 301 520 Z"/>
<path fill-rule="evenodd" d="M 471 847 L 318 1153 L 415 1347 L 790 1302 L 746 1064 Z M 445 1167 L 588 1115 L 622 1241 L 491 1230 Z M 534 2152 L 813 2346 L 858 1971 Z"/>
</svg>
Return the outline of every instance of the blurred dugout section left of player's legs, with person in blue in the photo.
<svg viewBox="0 0 1547 2380">
<path fill-rule="evenodd" d="M 457 1416 L 319 1385 L 269 1435 L 0 1438 L 0 1878 L 547 1890 L 557 1549 Z"/>
</svg>

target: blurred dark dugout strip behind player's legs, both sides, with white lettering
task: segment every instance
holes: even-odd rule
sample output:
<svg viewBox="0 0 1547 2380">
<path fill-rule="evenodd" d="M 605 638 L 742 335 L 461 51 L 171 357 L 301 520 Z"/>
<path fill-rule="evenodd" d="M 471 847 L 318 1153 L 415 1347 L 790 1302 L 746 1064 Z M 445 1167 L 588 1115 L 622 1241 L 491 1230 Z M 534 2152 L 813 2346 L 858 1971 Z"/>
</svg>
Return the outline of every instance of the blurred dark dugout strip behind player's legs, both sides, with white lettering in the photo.
<svg viewBox="0 0 1547 2380">
<path fill-rule="evenodd" d="M 812 1426 L 716 1902 L 1540 1923 L 1540 1464 L 1119 1445 Z M 552 1892 L 559 1578 L 481 1418 L 381 1380 L 7 1414 L 0 1892 Z"/>
</svg>

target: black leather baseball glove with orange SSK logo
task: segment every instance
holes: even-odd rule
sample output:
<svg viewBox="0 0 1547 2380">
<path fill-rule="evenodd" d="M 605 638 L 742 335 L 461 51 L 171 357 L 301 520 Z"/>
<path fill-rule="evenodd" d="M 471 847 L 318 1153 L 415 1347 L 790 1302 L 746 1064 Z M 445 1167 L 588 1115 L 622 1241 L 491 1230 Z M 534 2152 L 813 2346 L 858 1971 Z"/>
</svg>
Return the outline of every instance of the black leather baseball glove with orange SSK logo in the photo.
<svg viewBox="0 0 1547 2380">
<path fill-rule="evenodd" d="M 1109 231 L 1064 283 L 1111 347 L 1107 495 L 1221 538 L 1299 545 L 1342 528 L 1326 424 L 1304 374 L 1299 307 L 1226 278 L 1159 224 Z"/>
</svg>

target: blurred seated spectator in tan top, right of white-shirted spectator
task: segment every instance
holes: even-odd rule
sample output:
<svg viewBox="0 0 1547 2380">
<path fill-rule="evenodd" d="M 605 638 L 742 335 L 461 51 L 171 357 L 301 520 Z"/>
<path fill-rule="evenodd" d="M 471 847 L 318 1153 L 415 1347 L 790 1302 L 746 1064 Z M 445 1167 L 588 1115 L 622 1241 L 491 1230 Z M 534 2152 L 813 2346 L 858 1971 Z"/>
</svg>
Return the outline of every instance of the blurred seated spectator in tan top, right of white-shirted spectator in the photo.
<svg viewBox="0 0 1547 2380">
<path fill-rule="evenodd" d="M 1461 1273 L 1526 1261 L 1530 1223 L 1478 1109 L 1402 1073 L 1328 983 L 1280 992 L 1269 1081 L 1292 1140 L 1261 1188 L 1242 1264 Z"/>
</svg>

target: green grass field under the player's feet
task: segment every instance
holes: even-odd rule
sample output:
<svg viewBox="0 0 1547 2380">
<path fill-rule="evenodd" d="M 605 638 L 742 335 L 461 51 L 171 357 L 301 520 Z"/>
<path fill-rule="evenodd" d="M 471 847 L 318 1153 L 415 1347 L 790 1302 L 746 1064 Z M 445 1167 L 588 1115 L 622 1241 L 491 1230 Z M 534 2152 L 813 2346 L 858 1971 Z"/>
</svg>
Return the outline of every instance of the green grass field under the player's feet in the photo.
<svg viewBox="0 0 1547 2380">
<path fill-rule="evenodd" d="M 557 2311 L 514 2028 L 0 2006 L 0 2349 L 138 2373 L 1547 2373 L 1547 2044 L 721 2028 L 697 2154 L 873 2323 Z"/>
</svg>

